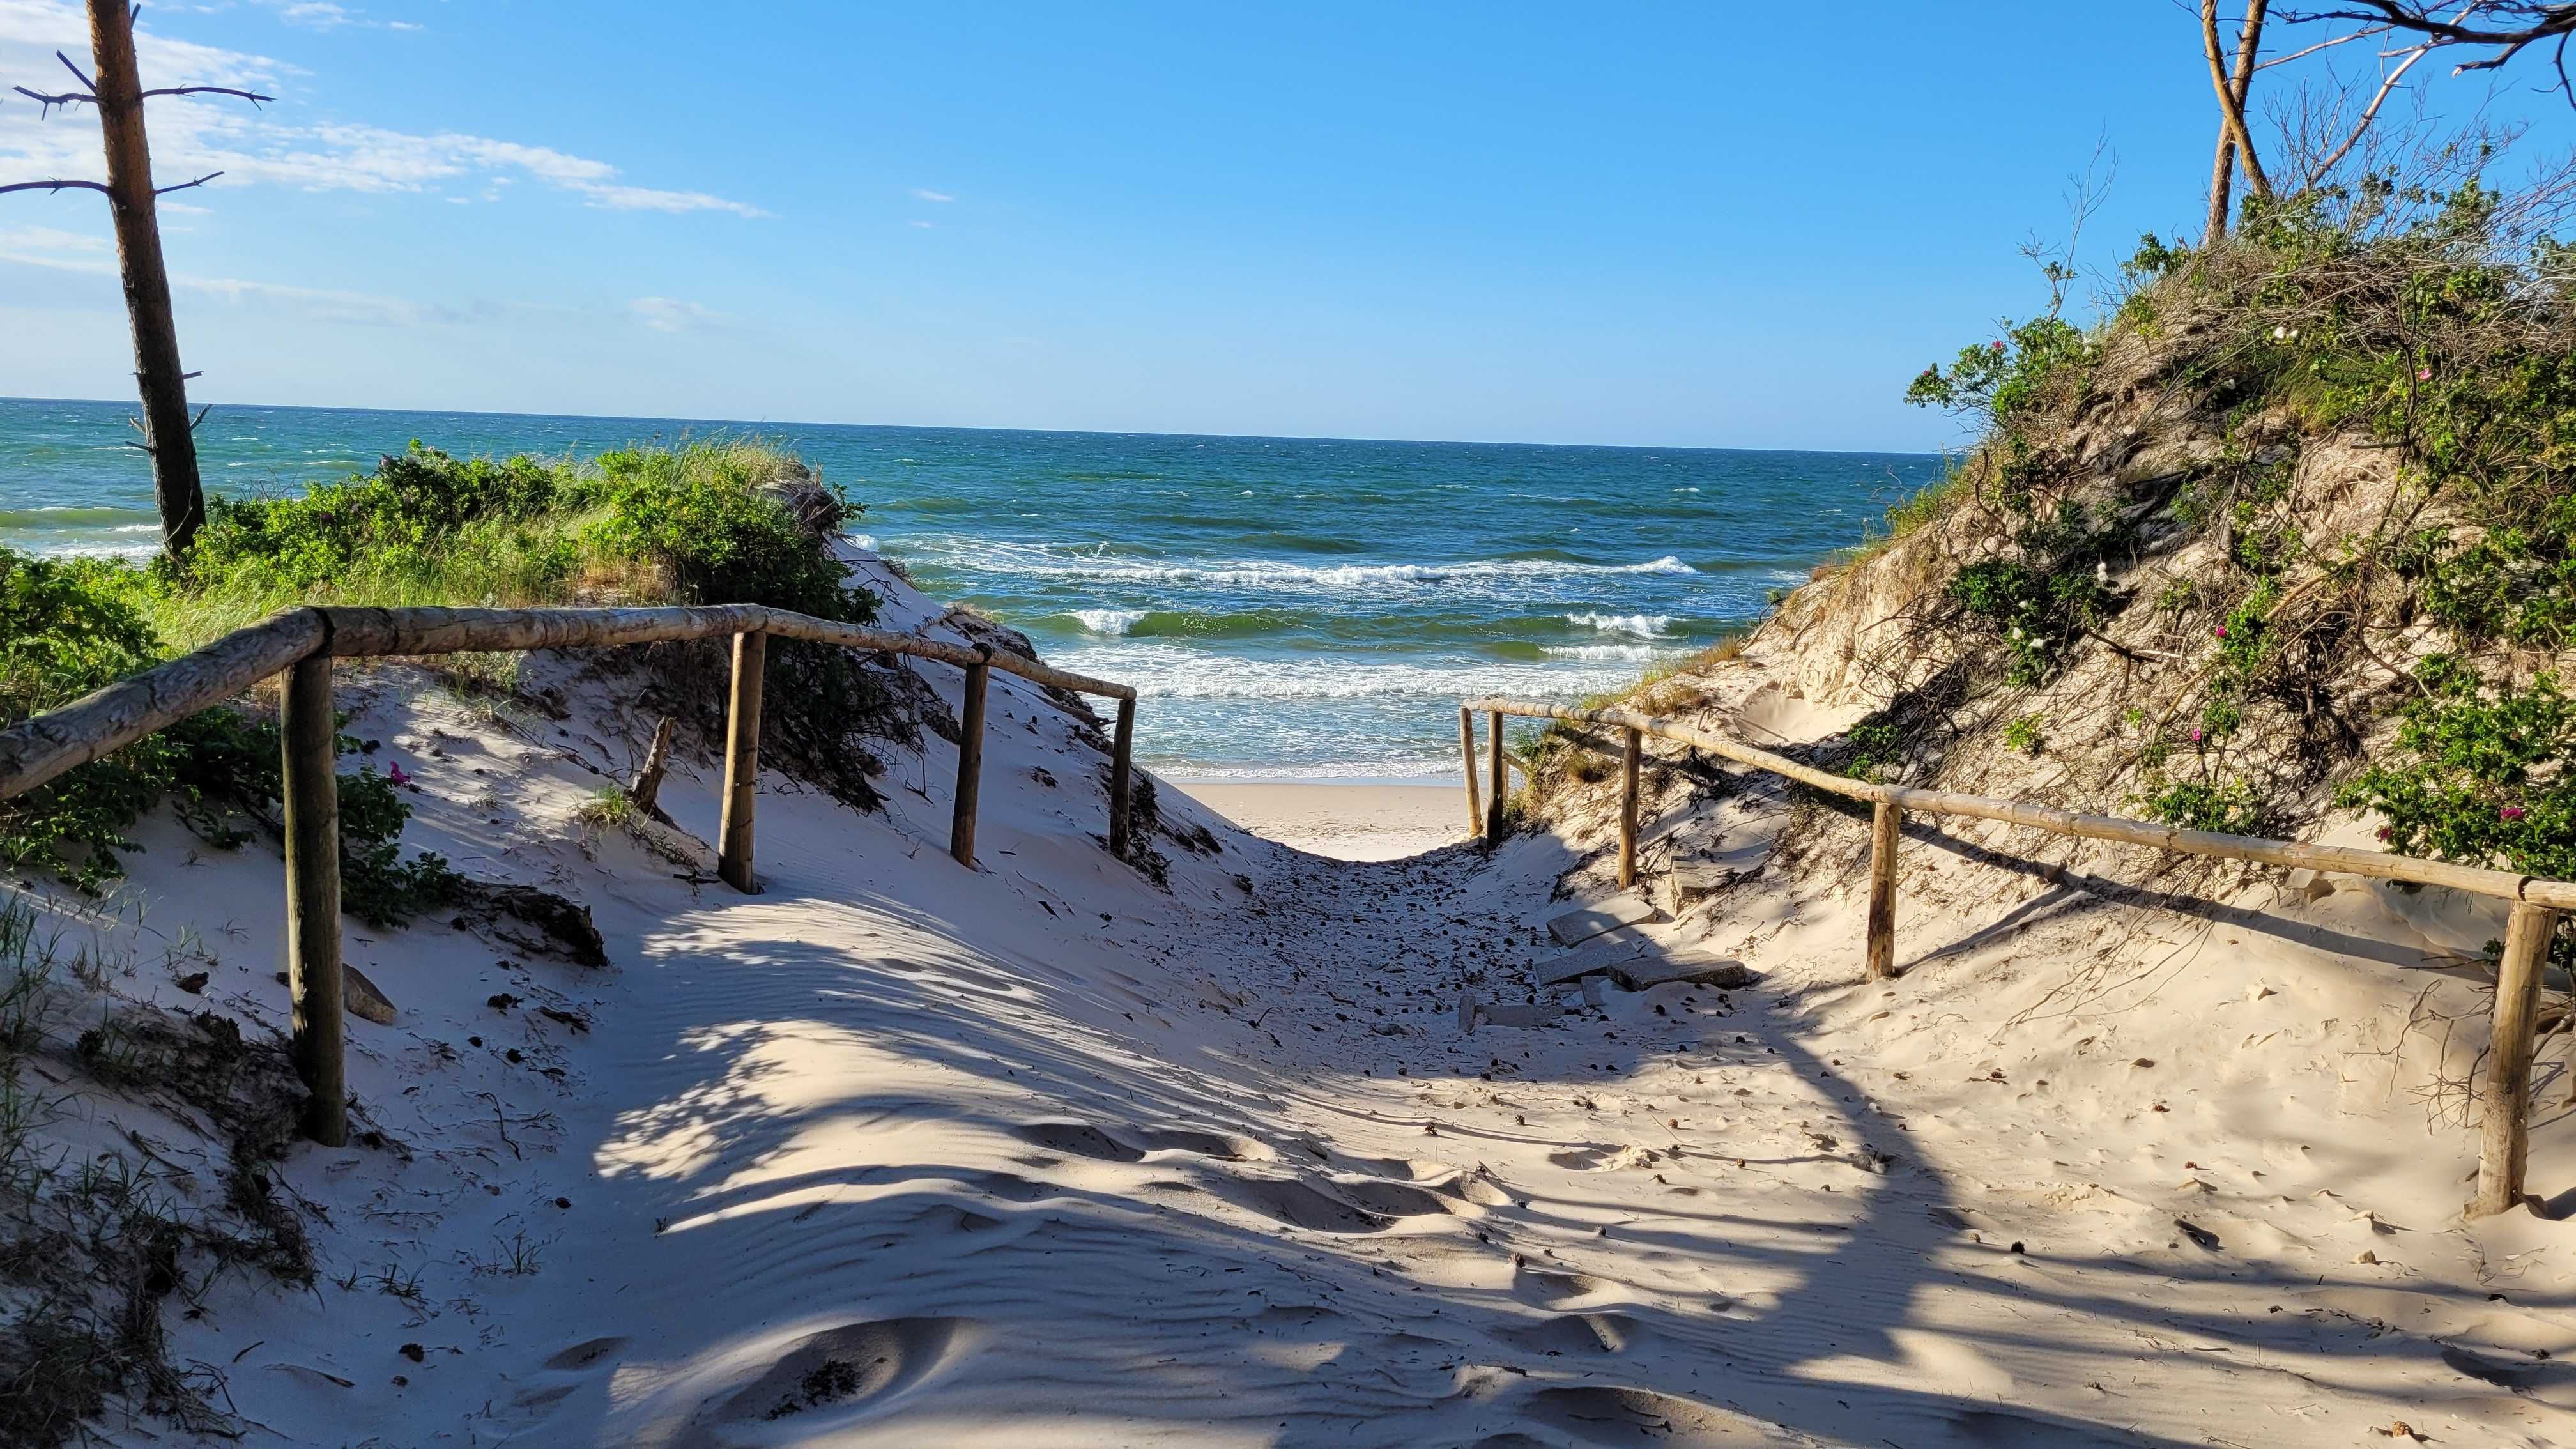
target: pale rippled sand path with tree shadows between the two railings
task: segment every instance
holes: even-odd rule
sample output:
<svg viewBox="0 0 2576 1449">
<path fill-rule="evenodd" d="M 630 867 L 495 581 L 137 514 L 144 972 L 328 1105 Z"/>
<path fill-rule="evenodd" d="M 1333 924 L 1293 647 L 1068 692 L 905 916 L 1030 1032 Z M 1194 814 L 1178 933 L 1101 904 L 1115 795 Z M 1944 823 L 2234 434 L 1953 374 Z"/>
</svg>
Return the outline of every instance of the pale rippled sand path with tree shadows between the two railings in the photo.
<svg viewBox="0 0 2576 1449">
<path fill-rule="evenodd" d="M 394 1145 L 286 1165 L 314 1294 L 173 1323 L 252 1441 L 2576 1441 L 2535 1356 L 2576 1343 L 2571 1227 L 2458 1225 L 2468 1134 L 2367 1047 L 2427 980 L 2378 897 L 2102 913 L 1963 843 L 1950 897 L 1909 879 L 1917 969 L 1862 987 L 1852 902 L 1780 856 L 1674 928 L 1757 987 L 1461 1034 L 1461 990 L 1528 995 L 1561 874 L 1602 895 L 1600 841 L 1321 861 L 1167 792 L 1221 851 L 1157 841 L 1164 892 L 1097 846 L 1097 748 L 994 676 L 979 871 L 933 740 L 886 815 L 773 779 L 744 900 L 585 851 L 641 735 L 603 696 L 507 724 L 415 683 L 353 691 L 415 843 L 580 895 L 616 967 L 353 923 Z M 711 766 L 667 804 L 711 835 Z M 1664 825 L 1762 864 L 1788 817 Z M 155 846 L 100 926 L 121 987 L 185 1000 L 185 926 L 209 998 L 281 1024 L 276 859 Z"/>
</svg>

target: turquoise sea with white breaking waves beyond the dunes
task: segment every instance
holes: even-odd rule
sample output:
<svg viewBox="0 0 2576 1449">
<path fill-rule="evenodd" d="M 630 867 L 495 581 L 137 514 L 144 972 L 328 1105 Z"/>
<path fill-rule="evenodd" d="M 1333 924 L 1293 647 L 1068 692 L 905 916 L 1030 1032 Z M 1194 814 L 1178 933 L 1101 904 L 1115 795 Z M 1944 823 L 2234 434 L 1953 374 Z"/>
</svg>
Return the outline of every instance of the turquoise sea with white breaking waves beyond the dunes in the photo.
<svg viewBox="0 0 2576 1449">
<path fill-rule="evenodd" d="M 129 405 L 0 400 L 0 544 L 149 554 Z M 1455 701 L 1571 699 L 1757 619 L 1932 482 L 1929 454 L 1188 438 L 216 407 L 206 487 L 332 480 L 410 438 L 595 454 L 760 433 L 866 503 L 940 598 L 1144 691 L 1139 753 L 1216 779 L 1455 771 Z"/>
</svg>

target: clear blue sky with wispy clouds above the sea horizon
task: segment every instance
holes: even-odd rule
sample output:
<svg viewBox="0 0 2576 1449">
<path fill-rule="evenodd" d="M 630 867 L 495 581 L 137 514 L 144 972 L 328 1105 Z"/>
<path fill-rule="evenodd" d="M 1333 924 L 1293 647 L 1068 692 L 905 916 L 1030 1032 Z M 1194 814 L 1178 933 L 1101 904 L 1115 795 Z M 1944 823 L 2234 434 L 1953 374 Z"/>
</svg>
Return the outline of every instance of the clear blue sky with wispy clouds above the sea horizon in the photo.
<svg viewBox="0 0 2576 1449">
<path fill-rule="evenodd" d="M 2174 0 L 1741 5 L 147 5 L 211 402 L 1929 449 L 2014 248 L 2197 232 Z M 1806 34 L 1814 28 L 1814 34 Z M 0 88 L 80 59 L 0 0 Z M 2437 67 L 2421 67 L 2437 70 Z M 2463 103 L 2468 83 L 2429 77 Z M 2483 90 L 2478 93 L 2483 95 Z M 2566 129 L 2527 85 L 2496 106 Z M 95 121 L 0 103 L 0 178 Z M 0 199 L 0 394 L 121 397 L 98 196 Z"/>
</svg>

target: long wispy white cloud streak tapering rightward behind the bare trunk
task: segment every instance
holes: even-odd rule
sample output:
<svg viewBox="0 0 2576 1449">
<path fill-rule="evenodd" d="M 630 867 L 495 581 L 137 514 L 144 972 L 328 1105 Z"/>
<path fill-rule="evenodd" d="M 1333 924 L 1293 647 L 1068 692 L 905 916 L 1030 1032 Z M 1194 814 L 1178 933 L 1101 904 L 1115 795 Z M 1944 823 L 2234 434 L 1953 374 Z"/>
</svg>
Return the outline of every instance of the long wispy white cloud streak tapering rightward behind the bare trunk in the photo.
<svg viewBox="0 0 2576 1449">
<path fill-rule="evenodd" d="M 337 10 L 319 3 L 291 10 Z M 85 49 L 88 21 L 64 0 L 0 0 L 0 83 L 54 85 L 62 62 L 52 52 Z M 299 75 L 281 62 L 173 41 L 149 28 L 137 34 L 144 75 L 152 85 L 247 85 L 270 95 L 286 88 L 278 77 Z M 59 77 L 70 85 L 70 75 Z M 580 196 L 587 206 L 611 211 L 729 211 L 768 217 L 760 206 L 706 191 L 667 191 L 634 186 L 618 168 L 495 137 L 461 131 L 412 134 L 384 126 L 325 121 L 296 124 L 291 106 L 252 111 L 232 98 L 165 98 L 152 106 L 152 160 L 162 178 L 191 178 L 222 170 L 214 186 L 294 186 L 299 191 L 358 193 L 443 193 L 448 183 L 497 183 L 518 175 L 554 191 Z M 54 178 L 95 175 L 98 124 L 88 111 L 54 111 L 39 119 L 36 106 L 0 106 L 0 175 Z"/>
</svg>

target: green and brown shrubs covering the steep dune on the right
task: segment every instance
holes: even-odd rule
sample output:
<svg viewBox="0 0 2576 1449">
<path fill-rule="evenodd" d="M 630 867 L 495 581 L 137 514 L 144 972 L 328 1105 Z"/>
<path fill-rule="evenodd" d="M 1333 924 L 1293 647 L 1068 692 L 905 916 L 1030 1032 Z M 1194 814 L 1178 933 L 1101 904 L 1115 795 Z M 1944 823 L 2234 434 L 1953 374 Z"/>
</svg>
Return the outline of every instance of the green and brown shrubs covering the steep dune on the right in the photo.
<svg viewBox="0 0 2576 1449">
<path fill-rule="evenodd" d="M 1917 376 L 1984 433 L 1904 518 L 1971 552 L 1919 632 L 1968 668 L 1852 732 L 1870 771 L 1937 761 L 1965 696 L 2115 650 L 2154 678 L 2107 771 L 2146 815 L 2269 830 L 2339 802 L 2396 851 L 2576 871 L 2553 673 L 2576 647 L 2576 271 L 2545 232 L 2571 188 L 2499 193 L 2491 162 L 2460 142 L 2249 201 L 2202 248 L 2148 237 L 2099 325 L 2050 315 Z M 2215 446 L 2105 462 L 2123 418 Z M 2365 477 L 2385 498 L 2339 511 Z"/>
</svg>

